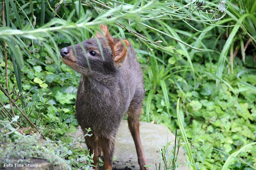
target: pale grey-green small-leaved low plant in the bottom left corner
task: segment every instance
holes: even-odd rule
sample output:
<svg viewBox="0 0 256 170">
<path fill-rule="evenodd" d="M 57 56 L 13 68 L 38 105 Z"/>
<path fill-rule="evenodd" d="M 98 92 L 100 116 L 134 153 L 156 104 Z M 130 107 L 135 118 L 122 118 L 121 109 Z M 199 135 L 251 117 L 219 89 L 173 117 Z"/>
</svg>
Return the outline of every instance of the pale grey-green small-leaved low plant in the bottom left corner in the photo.
<svg viewBox="0 0 256 170">
<path fill-rule="evenodd" d="M 18 116 L 11 123 L 13 124 L 17 120 Z M 25 163 L 31 162 L 32 158 L 41 158 L 53 165 L 58 165 L 59 169 L 72 169 L 72 167 L 89 169 L 89 165 L 93 161 L 89 152 L 80 146 L 83 138 L 72 139 L 67 136 L 62 137 L 59 141 L 43 140 L 40 139 L 40 134 L 23 135 L 18 133 L 17 129 L 11 127 L 9 121 L 0 121 L 0 128 L 1 163 Z M 88 162 L 87 165 L 84 164 L 85 161 Z"/>
</svg>

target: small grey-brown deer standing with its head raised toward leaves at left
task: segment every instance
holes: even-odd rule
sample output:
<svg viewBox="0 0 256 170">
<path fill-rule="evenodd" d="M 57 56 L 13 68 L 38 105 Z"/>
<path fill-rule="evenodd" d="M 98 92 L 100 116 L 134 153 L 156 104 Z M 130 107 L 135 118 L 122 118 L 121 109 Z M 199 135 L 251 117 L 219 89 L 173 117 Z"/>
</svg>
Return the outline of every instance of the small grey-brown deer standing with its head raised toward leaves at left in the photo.
<svg viewBox="0 0 256 170">
<path fill-rule="evenodd" d="M 142 71 L 136 53 L 127 40 L 112 38 L 106 25 L 101 25 L 96 39 L 90 39 L 61 50 L 64 63 L 81 74 L 76 99 L 75 117 L 86 133 L 90 154 L 94 153 L 93 165 L 97 169 L 98 156 L 103 152 L 105 170 L 112 170 L 115 138 L 120 122 L 128 112 L 129 129 L 132 133 L 140 169 L 146 159 L 139 137 L 139 116 L 144 97 Z M 103 55 L 100 54 L 102 48 Z M 86 53 L 84 53 L 84 50 Z M 75 51 L 75 52 L 74 52 Z M 92 56 L 91 52 L 96 55 Z M 88 62 L 89 61 L 89 62 Z"/>
</svg>

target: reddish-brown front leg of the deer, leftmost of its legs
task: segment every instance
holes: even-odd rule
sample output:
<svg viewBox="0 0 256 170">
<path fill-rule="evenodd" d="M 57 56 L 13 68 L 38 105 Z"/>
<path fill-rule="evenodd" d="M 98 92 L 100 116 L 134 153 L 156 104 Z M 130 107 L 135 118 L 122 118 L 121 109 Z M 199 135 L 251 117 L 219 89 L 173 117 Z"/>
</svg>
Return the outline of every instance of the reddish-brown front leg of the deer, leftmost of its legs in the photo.
<svg viewBox="0 0 256 170">
<path fill-rule="evenodd" d="M 97 167 L 97 164 L 98 164 L 98 140 L 96 139 L 96 137 L 94 135 L 91 137 L 86 136 L 85 142 L 89 149 L 90 155 L 92 155 L 94 153 L 94 156 L 93 156 L 94 162 L 92 164 L 95 166 L 95 167 L 93 167 L 93 169 L 97 170 L 98 169 L 98 167 Z"/>
</svg>

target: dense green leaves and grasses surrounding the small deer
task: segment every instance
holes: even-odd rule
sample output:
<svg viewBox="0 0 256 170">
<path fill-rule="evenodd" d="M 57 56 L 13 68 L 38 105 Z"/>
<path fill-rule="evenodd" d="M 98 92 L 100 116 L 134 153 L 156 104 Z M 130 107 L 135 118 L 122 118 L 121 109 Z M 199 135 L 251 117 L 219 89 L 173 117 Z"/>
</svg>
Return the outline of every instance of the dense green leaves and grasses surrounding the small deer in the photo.
<svg viewBox="0 0 256 170">
<path fill-rule="evenodd" d="M 136 49 L 141 121 L 178 129 L 192 169 L 256 169 L 256 1 L 2 0 L 0 7 L 0 141 L 8 143 L 0 163 L 47 158 L 88 167 L 81 139 L 67 136 L 78 125 L 80 75 L 59 51 L 104 23 Z M 28 135 L 35 131 L 47 142 Z"/>
</svg>

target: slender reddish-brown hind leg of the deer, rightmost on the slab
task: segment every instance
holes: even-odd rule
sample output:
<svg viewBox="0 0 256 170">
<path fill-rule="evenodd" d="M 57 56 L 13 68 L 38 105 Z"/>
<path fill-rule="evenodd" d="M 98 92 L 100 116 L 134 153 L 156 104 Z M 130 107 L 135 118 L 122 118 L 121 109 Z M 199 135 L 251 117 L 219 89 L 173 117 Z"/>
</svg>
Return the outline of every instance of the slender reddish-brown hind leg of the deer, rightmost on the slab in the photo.
<svg viewBox="0 0 256 170">
<path fill-rule="evenodd" d="M 139 137 L 139 116 L 141 114 L 141 108 L 141 104 L 137 106 L 134 104 L 130 105 L 128 109 L 128 126 L 136 147 L 140 170 L 149 170 L 147 167 L 144 167 L 144 165 L 147 165 L 147 161 Z"/>
</svg>

